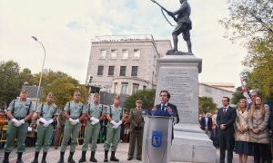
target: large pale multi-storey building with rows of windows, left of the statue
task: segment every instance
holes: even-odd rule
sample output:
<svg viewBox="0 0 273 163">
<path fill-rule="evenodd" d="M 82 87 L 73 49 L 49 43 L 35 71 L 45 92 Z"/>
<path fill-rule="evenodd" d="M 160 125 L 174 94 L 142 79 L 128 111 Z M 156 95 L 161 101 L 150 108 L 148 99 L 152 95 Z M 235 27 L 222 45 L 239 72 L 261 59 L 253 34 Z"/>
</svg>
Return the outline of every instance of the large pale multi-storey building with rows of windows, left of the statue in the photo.
<svg viewBox="0 0 273 163">
<path fill-rule="evenodd" d="M 86 81 L 120 94 L 155 89 L 157 59 L 169 49 L 169 40 L 154 40 L 152 35 L 97 36 L 91 43 Z"/>
</svg>

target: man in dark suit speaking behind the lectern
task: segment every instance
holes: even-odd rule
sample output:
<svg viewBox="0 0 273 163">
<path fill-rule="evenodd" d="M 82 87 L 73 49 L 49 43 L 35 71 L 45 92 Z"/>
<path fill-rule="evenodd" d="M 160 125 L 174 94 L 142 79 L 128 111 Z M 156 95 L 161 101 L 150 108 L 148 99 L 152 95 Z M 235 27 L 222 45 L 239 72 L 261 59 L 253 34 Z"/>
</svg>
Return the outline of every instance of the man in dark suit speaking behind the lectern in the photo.
<svg viewBox="0 0 273 163">
<path fill-rule="evenodd" d="M 169 103 L 170 94 L 168 91 L 163 90 L 160 91 L 160 103 L 157 104 L 153 110 L 152 115 L 154 116 L 167 116 L 171 117 L 174 116 L 176 118 L 175 123 L 179 122 L 179 116 L 177 112 L 177 106 Z M 172 131 L 172 139 L 174 139 L 174 127 Z"/>
</svg>

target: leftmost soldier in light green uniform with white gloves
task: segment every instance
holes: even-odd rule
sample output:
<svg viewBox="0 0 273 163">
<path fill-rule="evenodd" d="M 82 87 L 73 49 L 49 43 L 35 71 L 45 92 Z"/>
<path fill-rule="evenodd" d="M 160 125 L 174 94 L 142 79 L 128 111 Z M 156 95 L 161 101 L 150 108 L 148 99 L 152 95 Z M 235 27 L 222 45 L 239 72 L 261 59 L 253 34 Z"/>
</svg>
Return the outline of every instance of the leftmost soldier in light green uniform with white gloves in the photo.
<svg viewBox="0 0 273 163">
<path fill-rule="evenodd" d="M 12 101 L 9 104 L 6 115 L 10 119 L 8 121 L 6 131 L 6 143 L 4 147 L 5 158 L 2 163 L 9 162 L 9 154 L 14 149 L 15 138 L 17 137 L 17 153 L 18 157 L 16 163 L 23 163 L 22 154 L 25 151 L 25 139 L 27 134 L 27 128 L 34 112 L 34 105 L 32 101 L 28 101 L 26 98 L 28 93 L 25 89 L 20 92 L 20 98 Z"/>
</svg>

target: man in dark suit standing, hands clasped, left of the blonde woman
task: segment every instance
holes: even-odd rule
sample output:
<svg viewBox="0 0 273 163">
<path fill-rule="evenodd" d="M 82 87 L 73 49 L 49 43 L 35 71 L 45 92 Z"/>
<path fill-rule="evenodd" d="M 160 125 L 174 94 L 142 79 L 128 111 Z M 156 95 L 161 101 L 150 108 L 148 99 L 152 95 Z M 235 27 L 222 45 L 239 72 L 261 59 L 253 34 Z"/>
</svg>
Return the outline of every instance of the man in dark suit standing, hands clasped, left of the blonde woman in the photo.
<svg viewBox="0 0 273 163">
<path fill-rule="evenodd" d="M 236 110 L 229 106 L 229 98 L 223 97 L 223 107 L 217 113 L 217 125 L 219 146 L 220 146 L 220 163 L 225 163 L 225 152 L 227 149 L 227 163 L 232 163 L 233 145 L 234 145 L 234 126 L 236 120 Z"/>
</svg>

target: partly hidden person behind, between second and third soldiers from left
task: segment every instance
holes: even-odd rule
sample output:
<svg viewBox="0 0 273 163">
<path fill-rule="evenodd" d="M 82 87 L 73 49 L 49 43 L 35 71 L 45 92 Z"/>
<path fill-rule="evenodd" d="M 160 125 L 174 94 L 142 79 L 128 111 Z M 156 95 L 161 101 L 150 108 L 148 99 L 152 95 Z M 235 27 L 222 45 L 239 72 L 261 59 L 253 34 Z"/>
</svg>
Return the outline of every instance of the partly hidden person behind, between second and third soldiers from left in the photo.
<svg viewBox="0 0 273 163">
<path fill-rule="evenodd" d="M 64 108 L 58 108 L 58 116 L 57 116 L 57 126 L 56 126 L 56 136 L 54 140 L 54 149 L 58 149 L 58 146 L 61 141 L 61 137 L 64 133 L 65 129 L 65 123 L 66 123 L 66 118 L 63 114 Z"/>
</svg>

